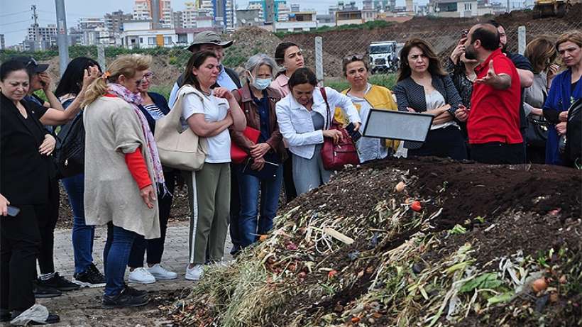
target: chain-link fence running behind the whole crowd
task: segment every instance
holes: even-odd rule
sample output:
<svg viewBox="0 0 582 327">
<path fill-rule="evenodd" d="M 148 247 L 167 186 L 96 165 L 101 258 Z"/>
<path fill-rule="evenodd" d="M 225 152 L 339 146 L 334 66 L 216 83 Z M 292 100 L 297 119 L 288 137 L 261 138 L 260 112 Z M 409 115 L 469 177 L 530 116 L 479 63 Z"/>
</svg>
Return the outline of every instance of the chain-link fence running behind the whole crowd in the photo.
<svg viewBox="0 0 582 327">
<path fill-rule="evenodd" d="M 517 18 L 516 18 L 517 17 Z M 521 18 L 520 18 L 521 17 Z M 557 38 L 558 35 L 573 29 L 581 29 L 582 23 L 579 18 L 562 19 L 542 19 L 533 20 L 531 16 L 516 16 L 513 14 L 496 17 L 506 28 L 508 39 L 508 50 L 517 52 L 519 26 L 525 26 L 527 41 L 539 35 L 549 35 Z M 315 67 L 314 40 L 317 36 L 322 37 L 323 50 L 323 72 L 324 84 L 336 89 L 344 89 L 347 82 L 342 76 L 341 59 L 351 53 L 366 53 L 369 55 L 369 47 L 373 42 L 395 41 L 397 50 L 406 40 L 410 38 L 422 38 L 431 43 L 442 60 L 446 60 L 459 42 L 461 31 L 470 28 L 478 21 L 487 21 L 488 18 L 467 18 L 467 19 L 446 19 L 446 18 L 415 18 L 406 23 L 388 23 L 383 27 L 368 28 L 369 25 L 351 26 L 345 29 L 328 29 L 327 31 L 314 31 L 309 33 L 270 33 L 261 28 L 243 28 L 228 37 L 234 40 L 234 45 L 227 48 L 223 60 L 227 67 L 238 68 L 238 72 L 243 72 L 244 62 L 258 52 L 264 52 L 274 56 L 275 48 L 280 42 L 293 42 L 302 48 L 305 62 L 308 67 Z M 172 84 L 183 72 L 187 60 L 191 53 L 184 48 L 149 48 L 149 49 L 126 49 L 107 47 L 104 49 L 104 58 L 99 58 L 97 46 L 70 47 L 70 58 L 79 56 L 91 57 L 100 62 L 99 59 L 107 63 L 115 57 L 128 53 L 144 53 L 152 55 L 153 65 L 151 69 L 155 73 L 152 89 L 165 96 L 168 96 Z M 22 55 L 18 52 L 0 51 L 0 61 L 6 60 L 11 55 Z M 33 55 L 40 62 L 50 64 L 49 72 L 53 80 L 59 77 L 59 60 L 57 50 L 43 52 L 26 53 Z M 392 87 L 395 84 L 395 74 L 388 71 L 379 71 L 370 77 L 370 82 Z M 56 83 L 55 83 L 56 84 Z"/>
</svg>

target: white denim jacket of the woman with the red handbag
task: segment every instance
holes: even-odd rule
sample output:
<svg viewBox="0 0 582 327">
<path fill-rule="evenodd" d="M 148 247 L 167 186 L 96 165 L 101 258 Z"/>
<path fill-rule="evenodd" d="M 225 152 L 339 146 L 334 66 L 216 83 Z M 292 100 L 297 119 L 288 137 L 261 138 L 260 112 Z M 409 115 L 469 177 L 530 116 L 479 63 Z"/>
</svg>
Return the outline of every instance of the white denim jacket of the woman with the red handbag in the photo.
<svg viewBox="0 0 582 327">
<path fill-rule="evenodd" d="M 350 122 L 361 123 L 360 115 L 348 96 L 330 87 L 326 87 L 325 91 L 332 118 L 334 109 L 339 107 L 344 111 Z M 327 106 L 319 88 L 314 89 L 313 92 L 312 110 L 324 116 L 325 125 L 327 126 L 329 120 Z M 287 141 L 291 153 L 305 159 L 311 159 L 315 153 L 315 145 L 324 143 L 323 131 L 315 131 L 311 113 L 297 102 L 291 93 L 277 103 L 275 112 L 277 113 L 279 131 Z"/>
</svg>

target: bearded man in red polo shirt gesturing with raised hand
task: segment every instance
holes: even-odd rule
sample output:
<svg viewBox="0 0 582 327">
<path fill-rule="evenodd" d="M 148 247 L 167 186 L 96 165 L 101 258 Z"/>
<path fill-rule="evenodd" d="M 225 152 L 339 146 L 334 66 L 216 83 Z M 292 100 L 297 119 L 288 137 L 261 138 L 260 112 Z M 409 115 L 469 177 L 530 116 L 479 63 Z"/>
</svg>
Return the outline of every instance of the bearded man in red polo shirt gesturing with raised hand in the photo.
<svg viewBox="0 0 582 327">
<path fill-rule="evenodd" d="M 520 133 L 520 76 L 499 48 L 499 33 L 491 24 L 473 26 L 467 35 L 465 57 L 479 60 L 471 95 L 467 131 L 471 159 L 490 164 L 523 162 Z"/>
</svg>

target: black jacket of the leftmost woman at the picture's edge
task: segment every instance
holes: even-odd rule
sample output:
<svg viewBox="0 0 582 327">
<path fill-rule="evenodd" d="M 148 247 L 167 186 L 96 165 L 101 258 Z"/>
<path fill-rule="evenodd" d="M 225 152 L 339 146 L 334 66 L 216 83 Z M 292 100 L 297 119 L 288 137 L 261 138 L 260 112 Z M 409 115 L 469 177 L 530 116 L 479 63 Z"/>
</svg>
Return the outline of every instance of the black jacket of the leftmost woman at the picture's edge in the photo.
<svg viewBox="0 0 582 327">
<path fill-rule="evenodd" d="M 28 123 L 10 99 L 0 98 L 0 194 L 14 206 L 45 204 L 53 162 L 38 147 L 48 131 L 26 101 Z"/>
</svg>

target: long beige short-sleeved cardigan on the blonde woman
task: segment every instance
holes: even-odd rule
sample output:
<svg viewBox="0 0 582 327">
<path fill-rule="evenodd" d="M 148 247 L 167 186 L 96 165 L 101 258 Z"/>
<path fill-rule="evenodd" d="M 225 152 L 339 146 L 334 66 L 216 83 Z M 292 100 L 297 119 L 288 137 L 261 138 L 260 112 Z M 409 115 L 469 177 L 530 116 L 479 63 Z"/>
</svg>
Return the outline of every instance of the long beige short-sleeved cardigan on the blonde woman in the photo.
<svg viewBox="0 0 582 327">
<path fill-rule="evenodd" d="M 83 113 L 85 128 L 84 209 L 87 225 L 114 226 L 150 238 L 160 237 L 158 203 L 153 209 L 141 199 L 138 184 L 128 170 L 126 153 L 141 147 L 150 179 L 153 165 L 141 123 L 123 99 L 101 96 Z"/>
</svg>

